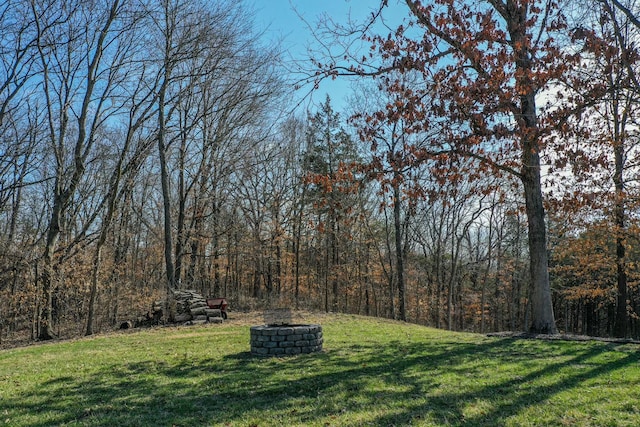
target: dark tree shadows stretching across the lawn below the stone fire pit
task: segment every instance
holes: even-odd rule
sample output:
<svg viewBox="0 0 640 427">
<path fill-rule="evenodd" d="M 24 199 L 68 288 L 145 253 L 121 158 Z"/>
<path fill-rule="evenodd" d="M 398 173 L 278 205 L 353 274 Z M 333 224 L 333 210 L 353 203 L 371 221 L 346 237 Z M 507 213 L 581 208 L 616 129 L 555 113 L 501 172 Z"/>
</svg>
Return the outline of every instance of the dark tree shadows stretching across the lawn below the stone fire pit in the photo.
<svg viewBox="0 0 640 427">
<path fill-rule="evenodd" d="M 325 344 L 326 346 L 326 344 Z M 611 362 L 591 358 L 606 345 L 548 345 L 560 361 L 545 362 L 539 347 L 509 339 L 477 343 L 400 342 L 336 344 L 323 353 L 291 358 L 255 358 L 242 352 L 221 358 L 181 362 L 146 361 L 105 367 L 79 381 L 69 373 L 33 390 L 20 401 L 0 401 L 0 413 L 43 414 L 33 426 L 339 425 L 349 413 L 367 416 L 389 408 L 364 425 L 431 422 L 447 425 L 503 425 L 525 407 L 544 405 L 556 393 L 640 361 L 638 352 L 616 353 Z M 577 349 L 577 350 L 576 350 Z M 482 375 L 482 361 L 531 362 L 523 375 L 495 383 L 455 387 L 450 375 Z M 572 366 L 580 369 L 571 370 Z M 562 375 L 560 375 L 562 374 Z M 388 388 L 371 389 L 372 378 Z M 540 381 L 544 380 L 544 381 Z M 379 384 L 379 383 L 378 383 Z M 62 399 L 60 393 L 75 396 Z M 339 396 L 339 398 L 336 398 Z M 24 404 L 22 402 L 37 402 Z M 488 401 L 484 411 L 465 415 L 469 402 Z M 381 414 L 381 415 L 380 415 Z M 46 415 L 46 416 L 45 416 Z"/>
</svg>

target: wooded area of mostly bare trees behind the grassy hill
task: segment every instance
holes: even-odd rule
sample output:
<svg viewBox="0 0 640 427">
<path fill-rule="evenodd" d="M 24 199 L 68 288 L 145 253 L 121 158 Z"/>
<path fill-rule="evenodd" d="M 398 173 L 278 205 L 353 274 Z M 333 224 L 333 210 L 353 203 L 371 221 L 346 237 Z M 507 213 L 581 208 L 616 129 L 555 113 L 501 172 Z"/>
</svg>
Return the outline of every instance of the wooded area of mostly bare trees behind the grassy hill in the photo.
<svg viewBox="0 0 640 427">
<path fill-rule="evenodd" d="M 0 344 L 174 289 L 640 338 L 640 5 L 378 6 L 291 75 L 238 2 L 1 2 Z"/>
</svg>

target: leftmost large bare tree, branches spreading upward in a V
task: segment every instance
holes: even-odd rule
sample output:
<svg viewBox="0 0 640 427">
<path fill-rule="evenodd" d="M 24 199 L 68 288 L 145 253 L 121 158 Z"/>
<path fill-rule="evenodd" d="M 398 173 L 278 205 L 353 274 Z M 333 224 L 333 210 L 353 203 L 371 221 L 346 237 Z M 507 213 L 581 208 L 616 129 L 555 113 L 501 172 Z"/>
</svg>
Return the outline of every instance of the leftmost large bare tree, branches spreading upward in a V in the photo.
<svg viewBox="0 0 640 427">
<path fill-rule="evenodd" d="M 103 7 L 73 0 L 33 1 L 29 8 L 37 31 L 39 89 L 46 101 L 46 138 L 54 161 L 38 334 L 40 339 L 50 339 L 54 336 L 53 295 L 60 285 L 54 269 L 59 238 L 100 132 L 114 113 L 110 97 L 126 55 L 115 39 L 129 22 L 122 16 L 120 0 Z M 94 219 L 95 215 L 89 216 L 80 235 Z"/>
</svg>

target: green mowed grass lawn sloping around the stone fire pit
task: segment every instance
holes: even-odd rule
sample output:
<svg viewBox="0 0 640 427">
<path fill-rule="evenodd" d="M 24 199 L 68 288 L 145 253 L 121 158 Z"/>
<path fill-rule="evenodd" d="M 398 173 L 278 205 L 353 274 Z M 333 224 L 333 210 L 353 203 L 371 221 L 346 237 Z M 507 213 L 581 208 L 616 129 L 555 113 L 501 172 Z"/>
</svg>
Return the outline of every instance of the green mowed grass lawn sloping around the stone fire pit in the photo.
<svg viewBox="0 0 640 427">
<path fill-rule="evenodd" d="M 632 344 L 320 323 L 324 351 L 286 358 L 233 320 L 0 351 L 0 425 L 640 425 Z"/>
</svg>

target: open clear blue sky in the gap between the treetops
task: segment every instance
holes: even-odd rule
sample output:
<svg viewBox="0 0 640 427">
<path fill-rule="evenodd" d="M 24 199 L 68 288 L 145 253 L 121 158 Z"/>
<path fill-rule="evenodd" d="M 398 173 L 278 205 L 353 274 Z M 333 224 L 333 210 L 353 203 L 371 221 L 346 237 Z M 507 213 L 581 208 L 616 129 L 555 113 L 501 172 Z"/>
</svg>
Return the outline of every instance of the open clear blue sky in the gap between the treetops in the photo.
<svg viewBox="0 0 640 427">
<path fill-rule="evenodd" d="M 393 1 L 390 4 L 386 15 L 404 12 Z M 281 40 L 286 56 L 303 60 L 308 57 L 307 49 L 315 44 L 309 26 L 315 28 L 321 17 L 329 17 L 337 23 L 345 23 L 349 17 L 360 21 L 377 5 L 378 0 L 253 0 L 249 7 L 256 11 L 257 28 L 266 28 L 264 36 L 267 40 Z M 299 91 L 300 96 L 303 90 Z M 346 79 L 326 81 L 311 99 L 307 99 L 307 104 L 323 102 L 325 94 L 329 93 L 334 109 L 341 111 L 350 92 L 351 84 Z"/>
</svg>

